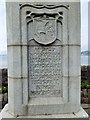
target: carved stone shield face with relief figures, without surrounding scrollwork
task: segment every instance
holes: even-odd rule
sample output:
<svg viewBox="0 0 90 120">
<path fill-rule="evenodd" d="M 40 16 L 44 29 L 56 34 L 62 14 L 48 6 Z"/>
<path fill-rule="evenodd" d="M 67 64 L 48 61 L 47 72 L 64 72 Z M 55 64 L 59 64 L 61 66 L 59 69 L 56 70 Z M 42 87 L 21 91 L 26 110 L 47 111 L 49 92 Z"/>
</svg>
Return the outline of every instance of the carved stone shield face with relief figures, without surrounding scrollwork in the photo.
<svg viewBox="0 0 90 120">
<path fill-rule="evenodd" d="M 48 45 L 56 40 L 56 20 L 49 18 L 34 18 L 34 40 Z"/>
</svg>

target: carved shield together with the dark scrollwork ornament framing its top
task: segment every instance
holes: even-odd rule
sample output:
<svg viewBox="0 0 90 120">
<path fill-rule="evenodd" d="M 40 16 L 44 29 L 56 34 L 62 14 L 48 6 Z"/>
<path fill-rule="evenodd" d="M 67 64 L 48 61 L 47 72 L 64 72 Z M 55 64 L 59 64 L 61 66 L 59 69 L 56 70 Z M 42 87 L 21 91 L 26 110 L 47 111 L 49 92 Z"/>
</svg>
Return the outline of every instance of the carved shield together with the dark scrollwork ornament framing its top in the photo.
<svg viewBox="0 0 90 120">
<path fill-rule="evenodd" d="M 26 11 L 27 23 L 33 24 L 33 38 L 36 42 L 48 45 L 55 42 L 57 38 L 57 22 L 62 24 L 63 12 L 58 13 L 32 13 Z M 62 15 L 61 15 L 62 14 Z M 60 34 L 60 33 L 59 33 Z M 60 40 L 60 39 L 58 39 Z"/>
</svg>

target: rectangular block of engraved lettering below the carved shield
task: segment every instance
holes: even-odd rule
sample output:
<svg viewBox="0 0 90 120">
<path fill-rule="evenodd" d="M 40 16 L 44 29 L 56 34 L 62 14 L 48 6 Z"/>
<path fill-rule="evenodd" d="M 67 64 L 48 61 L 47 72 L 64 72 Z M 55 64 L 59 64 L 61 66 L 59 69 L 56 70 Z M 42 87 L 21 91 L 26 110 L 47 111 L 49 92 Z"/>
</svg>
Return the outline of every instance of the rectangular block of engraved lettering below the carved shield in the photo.
<svg viewBox="0 0 90 120">
<path fill-rule="evenodd" d="M 30 97 L 61 96 L 61 47 L 29 47 Z"/>
</svg>

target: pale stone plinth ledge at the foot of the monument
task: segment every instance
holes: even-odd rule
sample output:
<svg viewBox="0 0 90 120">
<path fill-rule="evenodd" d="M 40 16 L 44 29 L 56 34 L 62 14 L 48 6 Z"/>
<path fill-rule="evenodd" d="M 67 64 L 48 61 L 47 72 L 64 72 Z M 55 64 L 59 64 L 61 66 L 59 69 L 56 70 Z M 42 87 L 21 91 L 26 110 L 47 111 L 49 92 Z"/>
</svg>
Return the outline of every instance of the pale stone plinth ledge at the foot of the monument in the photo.
<svg viewBox="0 0 90 120">
<path fill-rule="evenodd" d="M 0 120 L 17 120 L 17 119 L 29 119 L 29 120 L 89 120 L 88 114 L 81 108 L 79 112 L 72 114 L 56 114 L 56 115 L 39 115 L 39 116 L 13 116 L 8 112 L 8 104 L 0 113 Z"/>
</svg>

